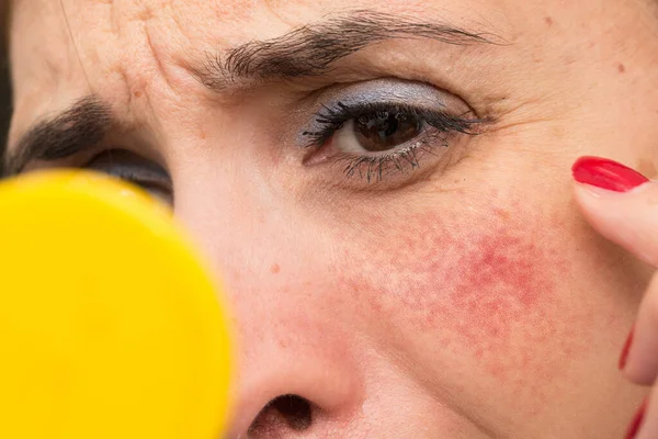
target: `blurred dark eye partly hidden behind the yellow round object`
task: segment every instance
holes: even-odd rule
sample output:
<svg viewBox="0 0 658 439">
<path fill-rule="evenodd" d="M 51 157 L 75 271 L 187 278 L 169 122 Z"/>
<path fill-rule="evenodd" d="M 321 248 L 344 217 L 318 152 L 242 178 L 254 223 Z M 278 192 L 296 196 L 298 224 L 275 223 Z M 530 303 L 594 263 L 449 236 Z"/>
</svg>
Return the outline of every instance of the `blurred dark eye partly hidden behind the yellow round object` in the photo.
<svg viewBox="0 0 658 439">
<path fill-rule="evenodd" d="M 169 172 L 141 156 L 125 149 L 110 149 L 95 156 L 86 168 L 136 184 L 152 198 L 173 205 L 173 187 Z"/>
</svg>

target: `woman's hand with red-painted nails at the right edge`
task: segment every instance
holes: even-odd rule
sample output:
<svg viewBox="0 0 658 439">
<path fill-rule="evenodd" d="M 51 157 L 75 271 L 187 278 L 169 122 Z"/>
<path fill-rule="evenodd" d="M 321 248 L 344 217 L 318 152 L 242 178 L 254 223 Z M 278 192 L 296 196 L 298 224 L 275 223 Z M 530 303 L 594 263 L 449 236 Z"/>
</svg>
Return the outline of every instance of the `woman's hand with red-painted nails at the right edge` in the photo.
<svg viewBox="0 0 658 439">
<path fill-rule="evenodd" d="M 601 235 L 658 267 L 658 182 L 617 162 L 582 157 L 574 165 L 576 201 Z M 620 369 L 634 383 L 654 386 L 626 439 L 658 438 L 658 277 L 642 301 L 622 349 Z"/>
</svg>

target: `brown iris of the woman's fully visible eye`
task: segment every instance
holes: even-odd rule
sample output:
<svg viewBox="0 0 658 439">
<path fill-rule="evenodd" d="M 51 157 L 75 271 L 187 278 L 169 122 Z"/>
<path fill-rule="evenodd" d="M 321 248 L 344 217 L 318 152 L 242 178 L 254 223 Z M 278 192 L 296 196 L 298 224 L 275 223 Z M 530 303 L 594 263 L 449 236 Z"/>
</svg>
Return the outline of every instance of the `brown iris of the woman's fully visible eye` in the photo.
<svg viewBox="0 0 658 439">
<path fill-rule="evenodd" d="M 381 153 L 402 145 L 421 133 L 417 117 L 400 112 L 378 111 L 354 121 L 354 134 L 363 149 Z"/>
</svg>

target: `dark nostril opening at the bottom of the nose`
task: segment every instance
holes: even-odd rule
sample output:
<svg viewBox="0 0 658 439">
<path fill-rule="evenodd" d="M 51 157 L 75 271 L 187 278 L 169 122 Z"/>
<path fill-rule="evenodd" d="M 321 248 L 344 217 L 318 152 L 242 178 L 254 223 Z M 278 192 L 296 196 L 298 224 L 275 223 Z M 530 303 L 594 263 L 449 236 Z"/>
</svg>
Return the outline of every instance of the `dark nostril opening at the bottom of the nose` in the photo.
<svg viewBox="0 0 658 439">
<path fill-rule="evenodd" d="M 302 396 L 283 395 L 263 407 L 249 427 L 249 435 L 264 436 L 285 430 L 305 431 L 311 424 L 311 404 Z"/>
</svg>

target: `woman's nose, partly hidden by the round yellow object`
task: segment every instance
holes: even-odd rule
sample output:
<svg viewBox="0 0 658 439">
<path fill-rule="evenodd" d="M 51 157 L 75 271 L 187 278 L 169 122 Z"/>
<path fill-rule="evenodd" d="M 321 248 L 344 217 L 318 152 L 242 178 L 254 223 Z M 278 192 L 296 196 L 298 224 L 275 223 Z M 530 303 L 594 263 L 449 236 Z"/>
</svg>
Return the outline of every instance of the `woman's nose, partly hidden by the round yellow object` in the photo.
<svg viewBox="0 0 658 439">
<path fill-rule="evenodd" d="M 338 295 L 329 256 L 317 251 L 320 237 L 300 230 L 306 222 L 295 221 L 294 209 L 285 209 L 275 193 L 241 184 L 228 172 L 213 176 L 195 173 L 186 181 L 179 176 L 175 214 L 223 278 L 236 320 L 237 416 L 230 437 L 245 437 L 254 421 L 276 425 L 265 430 L 274 428 L 281 437 L 295 431 L 266 414 L 283 396 L 298 396 L 313 413 L 344 416 L 358 406 L 362 385 L 340 313 L 327 313 Z M 321 430 L 317 417 L 308 419 Z"/>
</svg>

